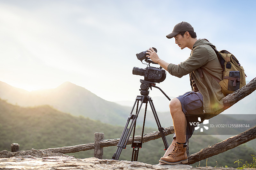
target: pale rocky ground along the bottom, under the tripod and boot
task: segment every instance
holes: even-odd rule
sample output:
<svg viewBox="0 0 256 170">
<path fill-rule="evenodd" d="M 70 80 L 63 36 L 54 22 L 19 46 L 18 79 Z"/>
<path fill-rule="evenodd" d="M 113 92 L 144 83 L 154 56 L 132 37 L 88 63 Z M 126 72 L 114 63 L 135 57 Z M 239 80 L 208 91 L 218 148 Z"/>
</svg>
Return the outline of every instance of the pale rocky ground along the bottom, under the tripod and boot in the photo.
<svg viewBox="0 0 256 170">
<path fill-rule="evenodd" d="M 62 153 L 30 151 L 0 152 L 0 170 L 236 170 L 235 168 L 197 167 L 189 165 L 150 165 L 142 162 L 86 158 L 76 159 Z M 248 169 L 247 169 L 248 170 Z M 252 169 L 250 169 L 252 170 Z M 253 169 L 256 170 L 256 169 Z"/>
</svg>

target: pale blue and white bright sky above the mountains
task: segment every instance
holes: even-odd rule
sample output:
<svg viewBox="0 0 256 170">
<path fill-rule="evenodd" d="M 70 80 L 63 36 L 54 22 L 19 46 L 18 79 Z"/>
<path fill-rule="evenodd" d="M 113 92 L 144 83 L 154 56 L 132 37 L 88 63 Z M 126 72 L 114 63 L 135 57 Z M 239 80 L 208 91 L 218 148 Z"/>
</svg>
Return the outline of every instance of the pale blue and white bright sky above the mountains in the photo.
<svg viewBox="0 0 256 170">
<path fill-rule="evenodd" d="M 250 81 L 255 6 L 254 0 L 0 0 L 0 81 L 28 91 L 69 81 L 108 101 L 135 100 L 144 77 L 132 69 L 147 67 L 137 53 L 155 47 L 174 64 L 189 57 L 190 49 L 166 38 L 181 21 L 198 39 L 235 55 Z M 156 85 L 170 97 L 191 91 L 188 75 L 167 72 Z M 164 95 L 154 88 L 149 96 Z"/>
</svg>

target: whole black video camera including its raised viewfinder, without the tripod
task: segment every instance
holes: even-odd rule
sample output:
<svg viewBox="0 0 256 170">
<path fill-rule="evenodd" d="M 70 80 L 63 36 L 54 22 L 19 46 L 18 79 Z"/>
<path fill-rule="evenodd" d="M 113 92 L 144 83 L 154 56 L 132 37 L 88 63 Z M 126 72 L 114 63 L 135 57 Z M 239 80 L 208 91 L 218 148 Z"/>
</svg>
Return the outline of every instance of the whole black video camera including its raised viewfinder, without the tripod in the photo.
<svg viewBox="0 0 256 170">
<path fill-rule="evenodd" d="M 156 48 L 153 47 L 153 49 L 157 52 Z M 140 75 L 140 76 L 144 76 L 144 80 L 146 81 L 151 81 L 151 82 L 155 82 L 155 83 L 160 83 L 162 81 L 165 80 L 166 78 L 166 72 L 165 70 L 162 70 L 162 67 L 160 66 L 159 68 L 156 67 L 151 67 L 149 64 L 153 63 L 153 64 L 157 64 L 155 62 L 153 62 L 152 60 L 149 60 L 150 58 L 147 57 L 148 54 L 146 54 L 146 51 L 143 51 L 139 54 L 136 54 L 138 60 L 140 60 L 142 62 L 142 60 L 145 59 L 145 61 L 148 63 L 148 67 L 145 69 L 139 68 L 139 67 L 133 67 L 132 69 L 132 74 L 134 75 Z"/>
</svg>

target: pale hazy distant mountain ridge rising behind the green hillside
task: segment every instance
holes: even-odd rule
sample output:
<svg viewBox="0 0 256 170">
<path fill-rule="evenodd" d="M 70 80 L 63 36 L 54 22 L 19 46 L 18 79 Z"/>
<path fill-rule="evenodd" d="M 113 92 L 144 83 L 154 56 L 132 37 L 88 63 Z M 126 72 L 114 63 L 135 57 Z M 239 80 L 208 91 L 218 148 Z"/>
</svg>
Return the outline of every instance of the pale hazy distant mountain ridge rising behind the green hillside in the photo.
<svg viewBox="0 0 256 170">
<path fill-rule="evenodd" d="M 32 92 L 0 82 L 0 98 L 22 107 L 49 105 L 61 112 L 70 113 L 75 116 L 82 115 L 93 120 L 100 120 L 104 123 L 123 126 L 127 122 L 127 118 L 134 104 L 133 101 L 129 107 L 121 106 L 115 102 L 104 100 L 84 87 L 70 82 L 65 82 L 55 89 Z M 144 105 L 143 107 L 145 108 Z M 137 123 L 140 125 L 143 124 L 143 107 L 137 119 Z M 135 111 L 136 108 L 133 114 L 135 114 Z M 172 118 L 169 113 L 159 113 L 158 117 L 163 127 L 172 125 Z M 145 126 L 157 127 L 151 111 L 148 111 Z"/>
</svg>

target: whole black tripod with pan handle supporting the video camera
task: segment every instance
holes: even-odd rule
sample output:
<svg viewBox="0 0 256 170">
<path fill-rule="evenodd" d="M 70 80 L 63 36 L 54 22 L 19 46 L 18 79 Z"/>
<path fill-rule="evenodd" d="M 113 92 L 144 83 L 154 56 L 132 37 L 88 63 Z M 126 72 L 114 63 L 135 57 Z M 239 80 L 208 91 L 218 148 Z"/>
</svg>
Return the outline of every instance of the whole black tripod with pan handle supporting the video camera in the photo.
<svg viewBox="0 0 256 170">
<path fill-rule="evenodd" d="M 168 143 L 167 143 L 167 140 L 165 138 L 165 135 L 164 135 L 164 131 L 166 132 L 166 130 L 161 126 L 160 122 L 159 122 L 159 119 L 158 119 L 158 116 L 156 114 L 156 109 L 155 109 L 155 106 L 153 104 L 153 101 L 151 99 L 151 97 L 148 96 L 149 94 L 149 91 L 148 89 L 150 88 L 152 90 L 151 87 L 156 87 L 158 88 L 169 100 L 171 100 L 164 92 L 162 89 L 160 89 L 159 87 L 155 86 L 156 83 L 154 82 L 150 82 L 150 81 L 146 81 L 146 80 L 140 80 L 141 82 L 141 85 L 140 85 L 140 94 L 141 95 L 138 95 L 135 102 L 134 102 L 134 105 L 132 107 L 132 111 L 127 119 L 127 122 L 126 122 L 126 125 L 124 127 L 124 131 L 120 137 L 120 140 L 117 144 L 117 149 L 116 149 L 116 152 L 114 153 L 112 159 L 115 159 L 115 160 L 118 160 L 119 157 L 120 157 L 120 154 L 122 152 L 122 149 L 126 148 L 126 144 L 128 143 L 128 140 L 129 140 L 129 137 L 132 133 L 132 129 L 133 129 L 133 136 L 132 136 L 132 161 L 138 161 L 138 155 L 139 155 L 139 149 L 142 147 L 142 140 L 143 140 L 143 133 L 144 133 L 144 126 L 145 126 L 145 120 L 146 120 L 146 112 L 147 112 L 147 106 L 148 106 L 148 102 L 150 104 L 150 107 L 151 107 L 151 110 L 153 112 L 153 115 L 155 117 L 155 120 L 156 120 L 156 124 L 157 124 L 157 127 L 158 127 L 158 130 L 161 134 L 161 137 L 162 137 L 162 140 L 164 142 L 164 147 L 165 147 L 165 150 L 168 149 Z M 141 104 L 140 104 L 140 107 L 139 107 L 139 101 L 141 101 Z M 134 110 L 134 107 L 137 103 L 137 108 L 136 108 L 136 115 L 132 115 L 132 112 Z M 142 126 L 142 133 L 141 133 L 141 139 L 140 139 L 140 142 L 137 142 L 137 141 L 134 141 L 134 135 L 135 135 L 135 127 L 136 127 L 136 120 L 137 120 L 137 117 L 139 115 L 139 112 L 140 112 L 140 109 L 141 109 L 141 106 L 143 103 L 146 103 L 146 106 L 145 106 L 145 114 L 144 114 L 144 121 L 143 121 L 143 126 Z M 132 121 L 131 121 L 132 120 Z M 130 124 L 130 121 L 131 121 L 131 124 Z M 130 124 L 130 126 L 129 126 Z M 128 128 L 129 126 L 129 128 Z M 167 133 L 167 132 L 166 132 Z"/>
</svg>

